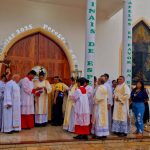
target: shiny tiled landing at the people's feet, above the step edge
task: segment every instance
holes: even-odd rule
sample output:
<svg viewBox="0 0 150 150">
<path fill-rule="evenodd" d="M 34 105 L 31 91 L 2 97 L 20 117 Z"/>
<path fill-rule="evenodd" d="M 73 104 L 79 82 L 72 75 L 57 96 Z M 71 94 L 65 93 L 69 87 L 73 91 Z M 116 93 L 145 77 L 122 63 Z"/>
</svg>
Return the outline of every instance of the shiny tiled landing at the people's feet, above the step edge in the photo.
<svg viewBox="0 0 150 150">
<path fill-rule="evenodd" d="M 135 131 L 135 127 L 132 127 L 132 133 Z M 63 142 L 72 141 L 74 134 L 68 133 L 62 129 L 62 127 L 46 126 L 40 128 L 34 128 L 31 130 L 22 130 L 20 133 L 4 134 L 0 133 L 0 144 L 15 144 L 15 143 L 35 143 L 35 142 Z M 145 137 L 150 138 L 150 132 L 145 131 Z M 135 135 L 129 134 L 128 138 L 135 138 Z M 117 136 L 111 135 L 108 139 L 118 139 Z"/>
</svg>

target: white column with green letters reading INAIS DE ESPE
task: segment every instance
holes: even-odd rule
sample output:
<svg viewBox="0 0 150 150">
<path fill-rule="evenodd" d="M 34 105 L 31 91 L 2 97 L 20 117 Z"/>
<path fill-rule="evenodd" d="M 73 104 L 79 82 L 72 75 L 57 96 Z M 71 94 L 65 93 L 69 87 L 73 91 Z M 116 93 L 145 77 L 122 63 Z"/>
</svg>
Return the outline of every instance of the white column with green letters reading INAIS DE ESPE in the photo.
<svg viewBox="0 0 150 150">
<path fill-rule="evenodd" d="M 95 37 L 96 0 L 87 0 L 85 77 L 90 81 L 90 85 L 94 81 Z"/>
</svg>

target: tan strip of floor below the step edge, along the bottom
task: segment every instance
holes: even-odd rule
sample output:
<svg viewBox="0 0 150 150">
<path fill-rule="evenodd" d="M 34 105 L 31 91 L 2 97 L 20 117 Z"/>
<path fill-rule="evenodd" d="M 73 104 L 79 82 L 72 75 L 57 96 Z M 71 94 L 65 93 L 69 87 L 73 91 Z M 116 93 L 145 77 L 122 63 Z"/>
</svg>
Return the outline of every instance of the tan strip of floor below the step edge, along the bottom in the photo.
<svg viewBox="0 0 150 150">
<path fill-rule="evenodd" d="M 53 143 L 53 144 L 34 144 L 19 145 L 15 147 L 2 147 L 0 150 L 150 150 L 150 142 L 106 142 L 106 143 Z"/>
</svg>

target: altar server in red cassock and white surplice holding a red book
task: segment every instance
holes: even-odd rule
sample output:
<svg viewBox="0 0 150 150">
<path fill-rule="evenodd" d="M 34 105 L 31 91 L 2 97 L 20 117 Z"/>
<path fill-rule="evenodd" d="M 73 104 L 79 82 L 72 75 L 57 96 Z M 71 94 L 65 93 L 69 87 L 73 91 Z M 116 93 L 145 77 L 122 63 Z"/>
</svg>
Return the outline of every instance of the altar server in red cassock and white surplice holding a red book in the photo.
<svg viewBox="0 0 150 150">
<path fill-rule="evenodd" d="M 28 75 L 21 80 L 21 127 L 22 129 L 30 129 L 34 127 L 34 83 L 33 78 L 36 75 L 31 70 Z"/>
</svg>

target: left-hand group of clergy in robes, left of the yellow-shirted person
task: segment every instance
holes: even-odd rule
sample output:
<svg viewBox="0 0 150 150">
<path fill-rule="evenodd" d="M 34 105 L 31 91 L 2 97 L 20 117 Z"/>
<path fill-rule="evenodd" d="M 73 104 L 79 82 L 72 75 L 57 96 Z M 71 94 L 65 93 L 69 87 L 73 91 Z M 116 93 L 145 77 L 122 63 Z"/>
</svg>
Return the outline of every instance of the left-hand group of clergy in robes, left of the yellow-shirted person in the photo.
<svg viewBox="0 0 150 150">
<path fill-rule="evenodd" d="M 48 94 L 52 87 L 45 80 L 45 73 L 39 72 L 39 79 L 33 82 L 37 73 L 31 70 L 20 80 L 15 74 L 7 81 L 3 74 L 0 81 L 0 129 L 4 133 L 31 129 L 48 122 Z"/>
</svg>

